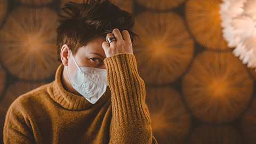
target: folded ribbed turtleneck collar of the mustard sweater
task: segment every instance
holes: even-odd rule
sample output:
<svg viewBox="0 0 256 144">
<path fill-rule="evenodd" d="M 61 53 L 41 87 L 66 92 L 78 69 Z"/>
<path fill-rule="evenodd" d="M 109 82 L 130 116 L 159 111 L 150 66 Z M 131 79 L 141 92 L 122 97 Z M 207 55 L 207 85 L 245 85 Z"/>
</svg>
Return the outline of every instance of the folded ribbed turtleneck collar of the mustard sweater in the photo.
<svg viewBox="0 0 256 144">
<path fill-rule="evenodd" d="M 51 95 L 51 98 L 59 103 L 62 107 L 69 110 L 85 110 L 93 106 L 101 105 L 106 103 L 110 99 L 110 89 L 107 87 L 107 91 L 102 95 L 102 97 L 93 105 L 87 101 L 83 96 L 76 95 L 66 91 L 61 83 L 61 75 L 63 72 L 64 66 L 61 64 L 56 72 L 55 81 L 53 81 L 48 87 L 48 92 Z"/>
</svg>

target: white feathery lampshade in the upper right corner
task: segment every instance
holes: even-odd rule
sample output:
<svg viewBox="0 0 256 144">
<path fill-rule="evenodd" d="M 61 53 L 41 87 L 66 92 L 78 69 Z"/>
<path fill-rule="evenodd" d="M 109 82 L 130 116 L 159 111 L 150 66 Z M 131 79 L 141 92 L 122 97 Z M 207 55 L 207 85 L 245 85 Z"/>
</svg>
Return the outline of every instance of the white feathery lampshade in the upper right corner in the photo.
<svg viewBox="0 0 256 144">
<path fill-rule="evenodd" d="M 222 35 L 247 67 L 256 68 L 256 0 L 222 0 Z"/>
</svg>

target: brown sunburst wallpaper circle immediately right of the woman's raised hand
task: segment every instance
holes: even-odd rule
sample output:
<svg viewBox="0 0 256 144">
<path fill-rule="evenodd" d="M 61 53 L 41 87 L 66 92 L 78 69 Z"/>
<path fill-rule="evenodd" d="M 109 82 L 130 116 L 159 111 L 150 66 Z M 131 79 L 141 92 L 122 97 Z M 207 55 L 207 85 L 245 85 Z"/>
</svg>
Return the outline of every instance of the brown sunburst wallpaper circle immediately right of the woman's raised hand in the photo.
<svg viewBox="0 0 256 144">
<path fill-rule="evenodd" d="M 184 73 L 193 58 L 194 42 L 178 14 L 141 13 L 134 32 L 139 38 L 133 51 L 146 83 L 170 83 Z"/>
</svg>

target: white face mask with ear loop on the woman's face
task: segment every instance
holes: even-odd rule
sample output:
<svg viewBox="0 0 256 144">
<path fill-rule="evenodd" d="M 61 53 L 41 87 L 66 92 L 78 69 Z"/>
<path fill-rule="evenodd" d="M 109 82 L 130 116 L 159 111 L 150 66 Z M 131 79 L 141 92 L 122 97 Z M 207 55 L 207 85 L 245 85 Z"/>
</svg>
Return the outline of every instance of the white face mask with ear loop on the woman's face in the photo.
<svg viewBox="0 0 256 144">
<path fill-rule="evenodd" d="M 71 51 L 70 51 L 71 52 Z M 76 63 L 76 60 L 71 52 L 71 55 Z M 107 70 L 94 67 L 79 67 L 76 63 L 77 69 L 68 78 L 72 84 L 72 87 L 83 97 L 94 104 L 107 90 Z"/>
</svg>

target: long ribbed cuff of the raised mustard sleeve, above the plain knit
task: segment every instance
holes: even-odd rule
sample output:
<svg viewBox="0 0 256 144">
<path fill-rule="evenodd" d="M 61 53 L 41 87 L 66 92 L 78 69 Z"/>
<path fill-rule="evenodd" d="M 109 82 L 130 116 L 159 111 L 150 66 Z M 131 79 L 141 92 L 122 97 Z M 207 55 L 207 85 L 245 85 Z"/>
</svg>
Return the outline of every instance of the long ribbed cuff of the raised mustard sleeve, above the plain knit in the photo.
<svg viewBox="0 0 256 144">
<path fill-rule="evenodd" d="M 116 54 L 106 58 L 104 63 L 116 124 L 149 122 L 145 109 L 145 84 L 138 74 L 135 56 L 130 53 Z"/>
</svg>

